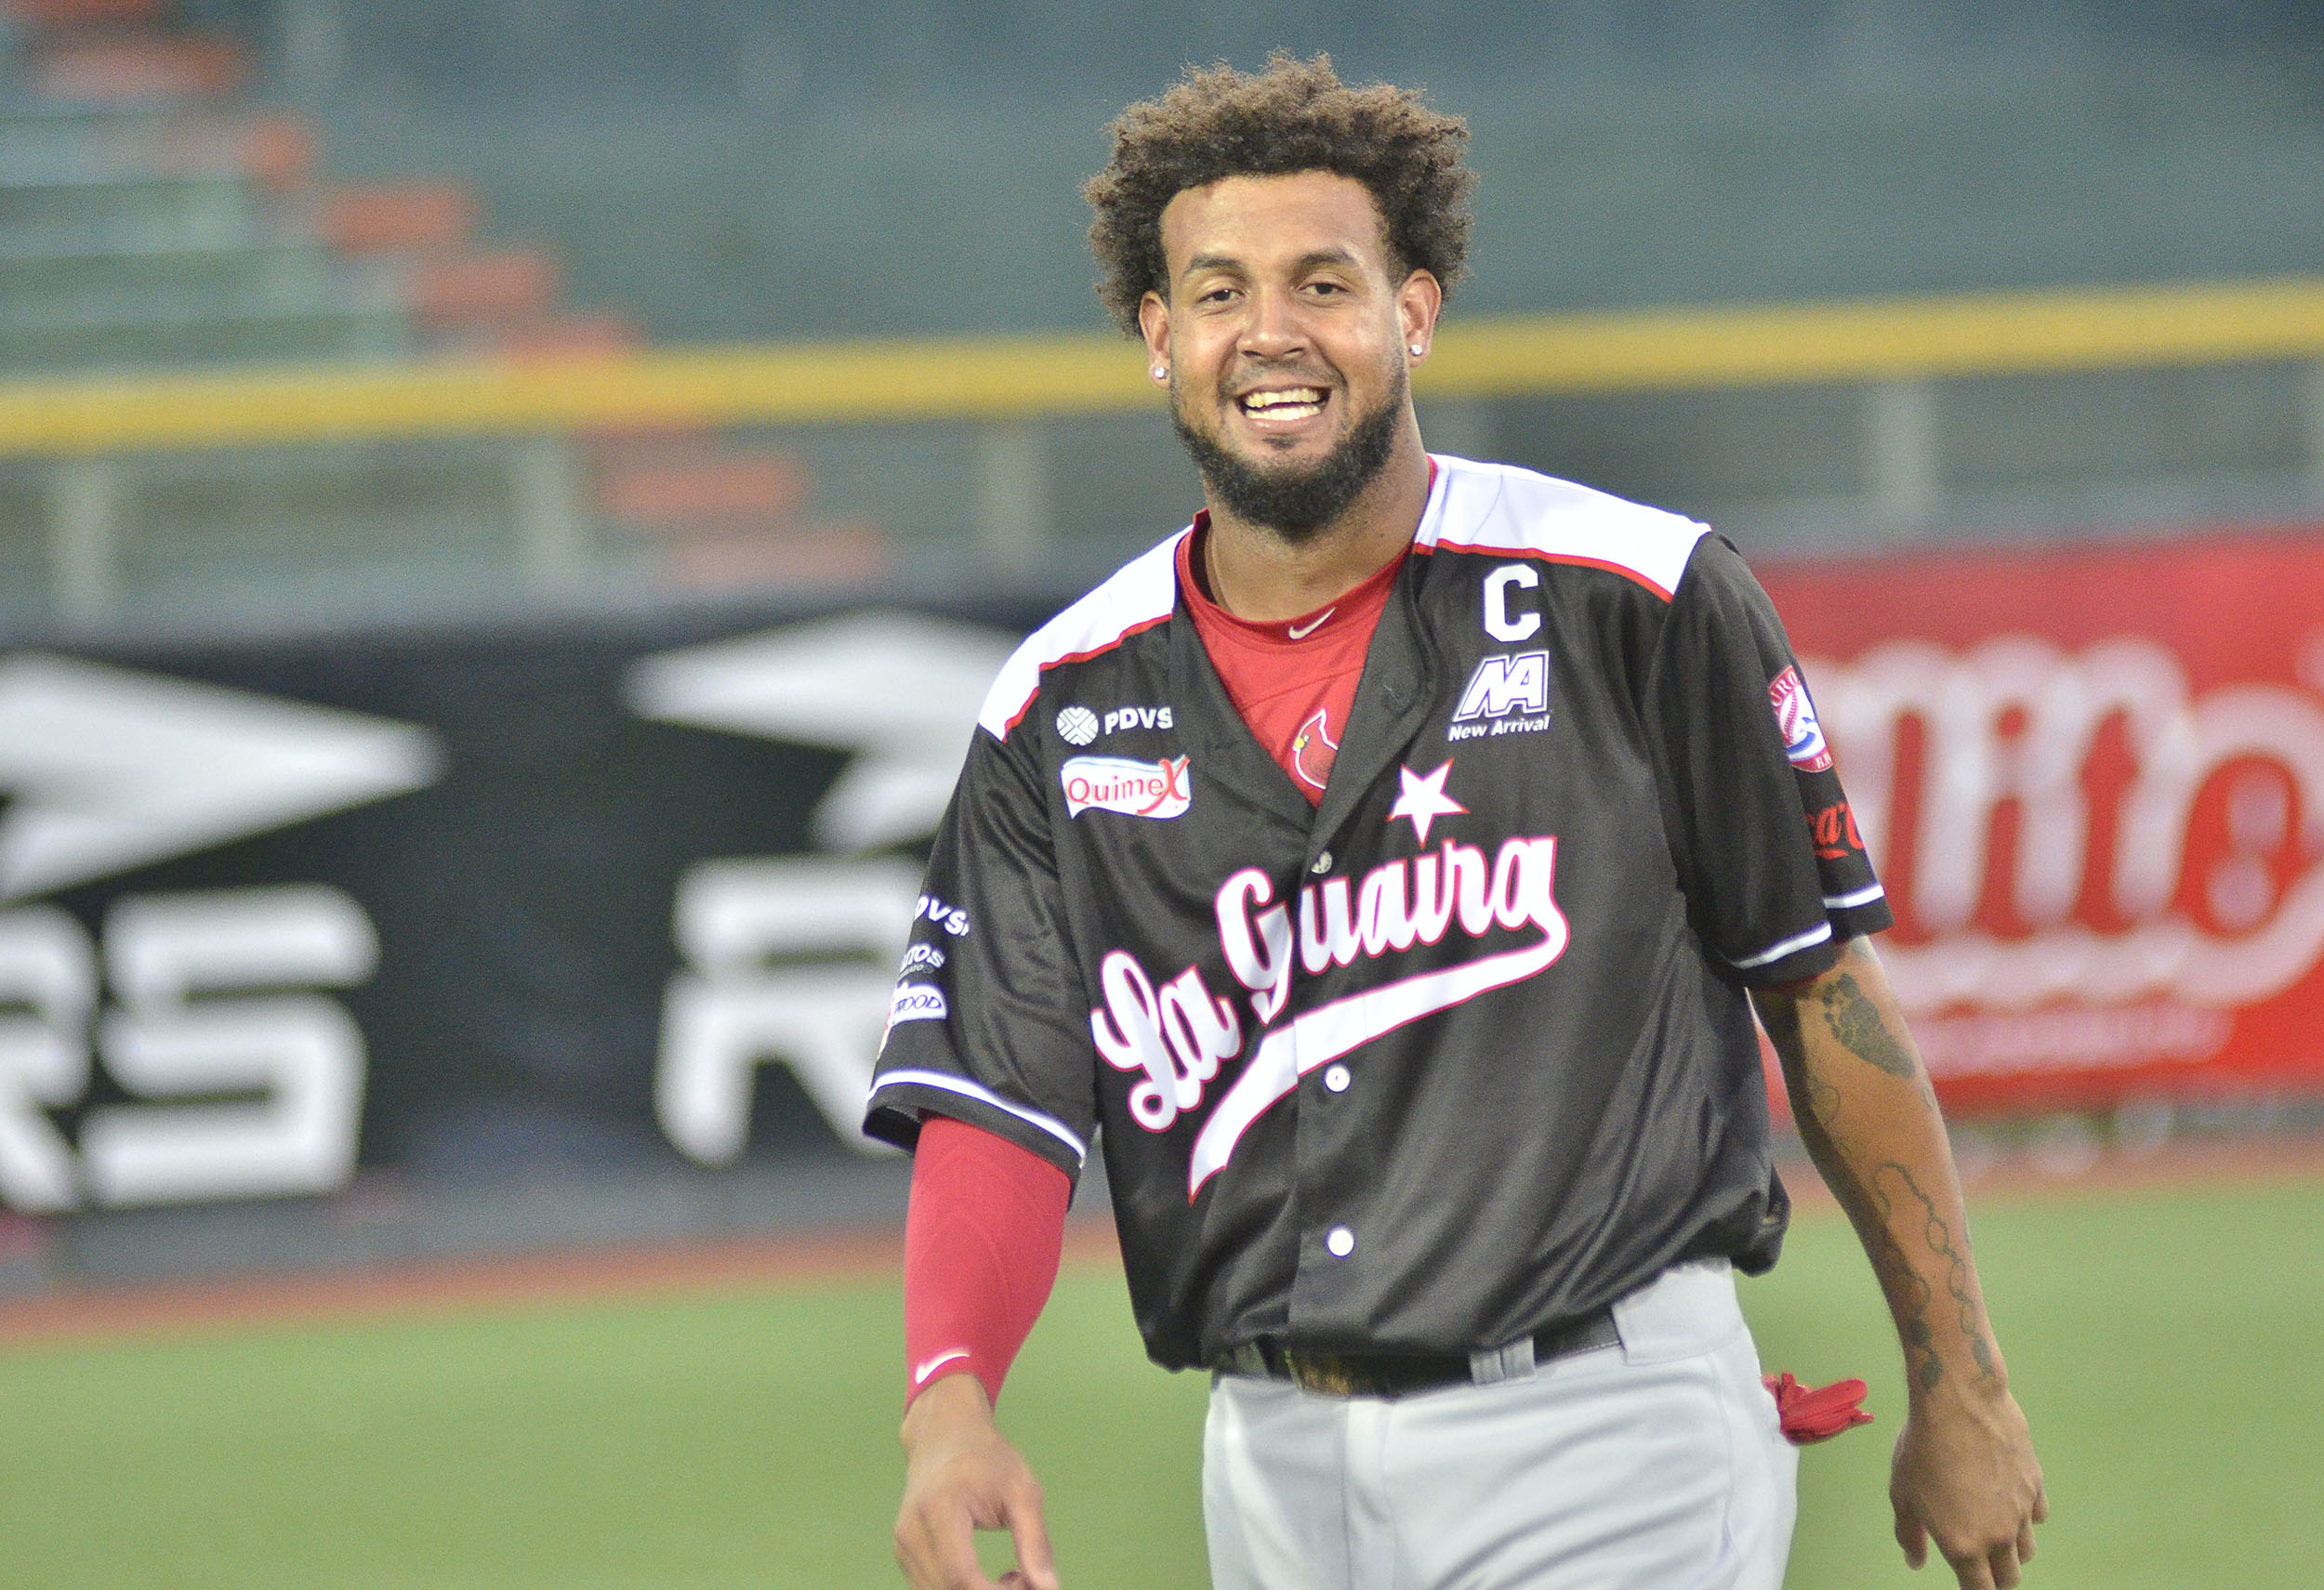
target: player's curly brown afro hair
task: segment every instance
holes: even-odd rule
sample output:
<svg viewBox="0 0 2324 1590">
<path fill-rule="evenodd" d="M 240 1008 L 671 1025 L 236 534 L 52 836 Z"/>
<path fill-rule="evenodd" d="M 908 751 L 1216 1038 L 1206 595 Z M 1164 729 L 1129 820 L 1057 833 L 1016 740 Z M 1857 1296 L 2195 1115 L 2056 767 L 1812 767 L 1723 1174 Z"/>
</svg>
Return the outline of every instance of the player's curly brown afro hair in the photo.
<svg viewBox="0 0 2324 1590">
<path fill-rule="evenodd" d="M 1469 188 L 1459 163 L 1469 126 L 1390 84 L 1350 88 L 1329 56 L 1285 51 L 1267 70 L 1190 67 L 1160 100 L 1141 100 L 1106 128 L 1113 160 L 1083 184 L 1097 219 L 1097 298 L 1132 337 L 1139 300 L 1169 295 L 1162 209 L 1178 193 L 1225 177 L 1336 172 L 1371 191 L 1399 274 L 1425 270 L 1450 298 L 1469 258 Z"/>
</svg>

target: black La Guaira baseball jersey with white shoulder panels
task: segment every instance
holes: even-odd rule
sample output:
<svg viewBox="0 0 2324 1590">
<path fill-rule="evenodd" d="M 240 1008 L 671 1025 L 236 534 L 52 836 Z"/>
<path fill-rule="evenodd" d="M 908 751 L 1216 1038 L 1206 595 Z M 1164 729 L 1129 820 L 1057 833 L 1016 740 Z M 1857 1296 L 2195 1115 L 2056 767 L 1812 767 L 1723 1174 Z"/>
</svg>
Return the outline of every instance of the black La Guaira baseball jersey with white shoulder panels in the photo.
<svg viewBox="0 0 2324 1590">
<path fill-rule="evenodd" d="M 992 686 L 867 1132 L 957 1116 L 1067 1174 L 1102 1141 L 1171 1369 L 1260 1337 L 1466 1353 L 1678 1260 L 1771 1265 L 1745 988 L 1889 914 L 1736 551 L 1439 458 L 1308 807 L 1176 542 Z"/>
</svg>

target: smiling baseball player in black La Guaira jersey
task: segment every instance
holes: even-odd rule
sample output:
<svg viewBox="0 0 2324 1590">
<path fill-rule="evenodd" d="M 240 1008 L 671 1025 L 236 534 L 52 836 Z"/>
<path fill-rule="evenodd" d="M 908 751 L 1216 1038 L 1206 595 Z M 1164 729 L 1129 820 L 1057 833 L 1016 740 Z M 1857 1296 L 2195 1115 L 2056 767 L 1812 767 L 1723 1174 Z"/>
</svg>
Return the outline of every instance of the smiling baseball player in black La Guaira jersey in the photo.
<svg viewBox="0 0 2324 1590">
<path fill-rule="evenodd" d="M 1422 451 L 1464 137 L 1278 56 L 1125 112 L 1088 188 L 1206 511 L 1009 660 L 930 858 L 867 1118 L 918 1151 L 913 1585 L 985 1585 L 976 1527 L 1057 1585 L 992 1404 L 1099 1148 L 1148 1353 L 1215 1376 L 1220 1590 L 1773 1590 L 1755 1007 L 1896 1316 L 1906 1557 L 1985 1590 L 2033 1555 L 1783 625 L 1699 523 Z"/>
</svg>

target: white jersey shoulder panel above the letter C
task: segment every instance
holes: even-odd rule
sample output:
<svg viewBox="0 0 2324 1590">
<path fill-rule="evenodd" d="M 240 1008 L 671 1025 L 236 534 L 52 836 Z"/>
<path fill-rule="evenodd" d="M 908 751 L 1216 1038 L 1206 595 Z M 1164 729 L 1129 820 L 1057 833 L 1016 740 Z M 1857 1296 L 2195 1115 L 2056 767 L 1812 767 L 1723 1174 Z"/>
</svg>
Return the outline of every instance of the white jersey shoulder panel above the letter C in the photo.
<svg viewBox="0 0 2324 1590">
<path fill-rule="evenodd" d="M 1710 525 L 1692 518 L 1518 465 L 1436 453 L 1436 479 L 1439 497 L 1413 551 L 1573 563 L 1631 579 L 1669 602 L 1694 544 L 1710 535 Z"/>
</svg>

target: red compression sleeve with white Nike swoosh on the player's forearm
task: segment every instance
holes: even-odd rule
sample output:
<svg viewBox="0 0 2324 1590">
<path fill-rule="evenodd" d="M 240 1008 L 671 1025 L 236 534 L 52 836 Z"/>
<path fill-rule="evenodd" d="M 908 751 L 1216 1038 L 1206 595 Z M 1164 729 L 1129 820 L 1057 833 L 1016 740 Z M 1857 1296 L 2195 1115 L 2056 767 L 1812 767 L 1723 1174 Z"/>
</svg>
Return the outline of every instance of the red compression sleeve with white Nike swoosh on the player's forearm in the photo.
<svg viewBox="0 0 2324 1590">
<path fill-rule="evenodd" d="M 920 1125 L 904 1218 L 904 1404 L 962 1369 L 1002 1381 L 1057 1283 L 1074 1183 L 1037 1153 L 948 1116 Z"/>
</svg>

